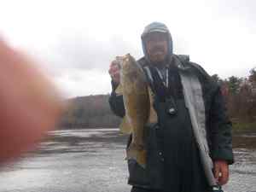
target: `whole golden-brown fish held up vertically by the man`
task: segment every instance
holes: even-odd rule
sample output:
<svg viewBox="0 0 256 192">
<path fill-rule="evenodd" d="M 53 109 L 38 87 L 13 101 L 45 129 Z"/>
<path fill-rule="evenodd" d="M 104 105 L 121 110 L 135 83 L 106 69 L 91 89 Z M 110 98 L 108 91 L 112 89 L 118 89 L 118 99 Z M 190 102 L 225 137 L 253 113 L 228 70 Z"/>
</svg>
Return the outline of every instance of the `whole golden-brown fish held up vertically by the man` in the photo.
<svg viewBox="0 0 256 192">
<path fill-rule="evenodd" d="M 144 129 L 148 122 L 150 101 L 148 84 L 143 69 L 131 55 L 117 58 L 120 63 L 120 84 L 116 92 L 123 95 L 125 118 L 120 125 L 123 132 L 131 133 L 132 139 L 127 148 L 127 159 L 137 160 L 146 166 Z"/>
</svg>

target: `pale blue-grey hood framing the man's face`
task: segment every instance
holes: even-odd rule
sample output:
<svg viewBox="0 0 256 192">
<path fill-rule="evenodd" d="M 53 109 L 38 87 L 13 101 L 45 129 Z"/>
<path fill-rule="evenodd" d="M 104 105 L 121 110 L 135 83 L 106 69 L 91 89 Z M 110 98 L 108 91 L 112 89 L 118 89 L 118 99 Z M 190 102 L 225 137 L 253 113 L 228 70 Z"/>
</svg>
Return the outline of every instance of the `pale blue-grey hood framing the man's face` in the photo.
<svg viewBox="0 0 256 192">
<path fill-rule="evenodd" d="M 163 23 L 160 23 L 160 22 L 152 22 L 152 23 L 150 23 L 148 26 L 146 26 L 144 28 L 144 31 L 143 31 L 143 34 L 142 34 L 142 44 L 143 44 L 143 53 L 145 55 L 145 58 L 149 61 L 144 38 L 146 36 L 148 36 L 151 32 L 163 32 L 163 33 L 166 33 L 166 36 L 168 38 L 167 39 L 168 40 L 168 50 L 169 50 L 168 57 L 170 58 L 170 56 L 173 54 L 173 50 L 172 50 L 172 36 L 171 36 L 171 33 L 169 32 L 169 29 L 167 28 L 167 26 L 165 24 L 163 24 Z"/>
</svg>

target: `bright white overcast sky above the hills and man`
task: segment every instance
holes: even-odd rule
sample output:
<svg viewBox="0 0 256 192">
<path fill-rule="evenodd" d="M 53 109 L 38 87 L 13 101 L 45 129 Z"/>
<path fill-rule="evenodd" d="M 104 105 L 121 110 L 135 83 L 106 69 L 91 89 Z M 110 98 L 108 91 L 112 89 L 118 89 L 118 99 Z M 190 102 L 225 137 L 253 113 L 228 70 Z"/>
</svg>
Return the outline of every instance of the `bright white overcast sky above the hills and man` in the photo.
<svg viewBox="0 0 256 192">
<path fill-rule="evenodd" d="M 256 67 L 256 1 L 1 1 L 0 34 L 33 55 L 65 96 L 111 91 L 116 55 L 143 56 L 152 21 L 169 27 L 174 52 L 208 73 L 246 77 Z"/>
</svg>

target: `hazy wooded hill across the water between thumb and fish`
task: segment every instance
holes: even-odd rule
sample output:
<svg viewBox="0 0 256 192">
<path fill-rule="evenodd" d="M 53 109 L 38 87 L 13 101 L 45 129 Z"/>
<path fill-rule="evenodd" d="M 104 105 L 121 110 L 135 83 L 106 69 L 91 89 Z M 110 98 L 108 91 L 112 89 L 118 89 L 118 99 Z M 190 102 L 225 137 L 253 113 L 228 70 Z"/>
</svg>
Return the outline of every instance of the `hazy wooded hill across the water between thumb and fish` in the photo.
<svg viewBox="0 0 256 192">
<path fill-rule="evenodd" d="M 108 98 L 109 95 L 96 95 L 67 100 L 67 110 L 59 126 L 63 129 L 118 127 L 120 118 L 111 112 Z"/>
</svg>

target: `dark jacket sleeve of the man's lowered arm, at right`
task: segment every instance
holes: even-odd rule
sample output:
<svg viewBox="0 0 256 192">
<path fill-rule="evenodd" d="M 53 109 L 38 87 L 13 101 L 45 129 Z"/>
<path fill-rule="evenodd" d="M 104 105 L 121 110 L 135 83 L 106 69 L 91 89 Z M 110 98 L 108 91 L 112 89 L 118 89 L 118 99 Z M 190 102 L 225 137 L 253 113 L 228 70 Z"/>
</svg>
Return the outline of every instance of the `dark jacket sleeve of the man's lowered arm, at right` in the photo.
<svg viewBox="0 0 256 192">
<path fill-rule="evenodd" d="M 212 132 L 212 160 L 227 160 L 228 164 L 233 164 L 232 124 L 227 115 L 224 97 L 219 86 L 212 96 L 210 124 Z"/>
</svg>

